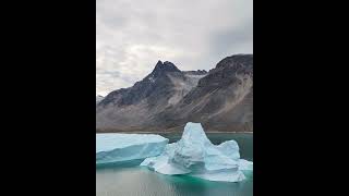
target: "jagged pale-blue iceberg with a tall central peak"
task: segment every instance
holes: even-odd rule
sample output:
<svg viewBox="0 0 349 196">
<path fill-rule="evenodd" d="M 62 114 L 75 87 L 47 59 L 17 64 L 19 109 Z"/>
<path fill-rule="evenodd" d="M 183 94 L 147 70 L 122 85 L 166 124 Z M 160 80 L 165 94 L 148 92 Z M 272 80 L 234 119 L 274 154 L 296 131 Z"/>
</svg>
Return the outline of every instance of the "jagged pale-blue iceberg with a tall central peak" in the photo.
<svg viewBox="0 0 349 196">
<path fill-rule="evenodd" d="M 242 181 L 245 179 L 242 171 L 253 170 L 251 161 L 240 159 L 237 142 L 215 146 L 200 123 L 186 123 L 179 142 L 168 144 L 161 155 L 145 159 L 141 166 L 168 175 L 226 182 Z"/>
</svg>

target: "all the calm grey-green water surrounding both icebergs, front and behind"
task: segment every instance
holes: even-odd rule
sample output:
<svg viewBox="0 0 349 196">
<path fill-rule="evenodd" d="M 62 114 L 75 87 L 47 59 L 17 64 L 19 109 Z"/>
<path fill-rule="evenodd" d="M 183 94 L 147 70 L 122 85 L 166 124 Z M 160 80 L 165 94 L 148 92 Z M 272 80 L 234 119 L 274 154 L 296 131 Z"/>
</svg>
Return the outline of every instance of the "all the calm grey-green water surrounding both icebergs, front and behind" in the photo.
<svg viewBox="0 0 349 196">
<path fill-rule="evenodd" d="M 164 135 L 170 143 L 180 134 Z M 214 144 L 236 139 L 243 159 L 253 161 L 253 134 L 207 134 Z M 136 167 L 142 160 L 96 169 L 97 196 L 252 196 L 253 172 L 239 183 L 210 182 L 185 175 L 163 175 Z"/>
</svg>

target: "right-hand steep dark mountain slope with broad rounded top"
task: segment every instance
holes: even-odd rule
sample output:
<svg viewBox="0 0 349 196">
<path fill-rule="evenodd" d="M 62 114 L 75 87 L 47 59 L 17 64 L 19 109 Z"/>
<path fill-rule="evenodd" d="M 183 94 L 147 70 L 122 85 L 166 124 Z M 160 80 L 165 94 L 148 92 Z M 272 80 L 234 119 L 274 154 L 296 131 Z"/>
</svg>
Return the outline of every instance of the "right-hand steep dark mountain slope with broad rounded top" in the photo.
<svg viewBox="0 0 349 196">
<path fill-rule="evenodd" d="M 163 128 L 201 122 L 209 131 L 252 131 L 253 56 L 232 56 L 215 69 L 174 107 L 157 115 Z"/>
</svg>

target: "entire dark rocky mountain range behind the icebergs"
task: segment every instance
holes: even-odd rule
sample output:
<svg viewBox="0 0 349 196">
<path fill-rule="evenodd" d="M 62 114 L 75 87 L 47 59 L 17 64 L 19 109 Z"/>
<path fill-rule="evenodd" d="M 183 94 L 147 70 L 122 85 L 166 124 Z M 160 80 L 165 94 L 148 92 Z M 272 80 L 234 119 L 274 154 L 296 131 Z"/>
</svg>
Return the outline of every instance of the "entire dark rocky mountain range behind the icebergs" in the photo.
<svg viewBox="0 0 349 196">
<path fill-rule="evenodd" d="M 208 131 L 253 131 L 253 54 L 227 57 L 206 71 L 159 61 L 130 88 L 96 107 L 97 131 L 176 131 L 186 122 Z"/>
</svg>

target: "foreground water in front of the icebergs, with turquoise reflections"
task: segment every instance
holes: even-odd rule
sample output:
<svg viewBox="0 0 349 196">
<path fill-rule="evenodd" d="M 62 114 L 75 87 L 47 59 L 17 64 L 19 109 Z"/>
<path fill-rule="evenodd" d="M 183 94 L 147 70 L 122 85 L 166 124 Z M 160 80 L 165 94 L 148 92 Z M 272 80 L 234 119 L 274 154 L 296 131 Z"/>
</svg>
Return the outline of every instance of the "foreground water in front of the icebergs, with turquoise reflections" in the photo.
<svg viewBox="0 0 349 196">
<path fill-rule="evenodd" d="M 253 179 L 239 183 L 210 182 L 185 175 L 163 175 L 146 168 L 96 172 L 98 196 L 252 196 Z"/>
</svg>

